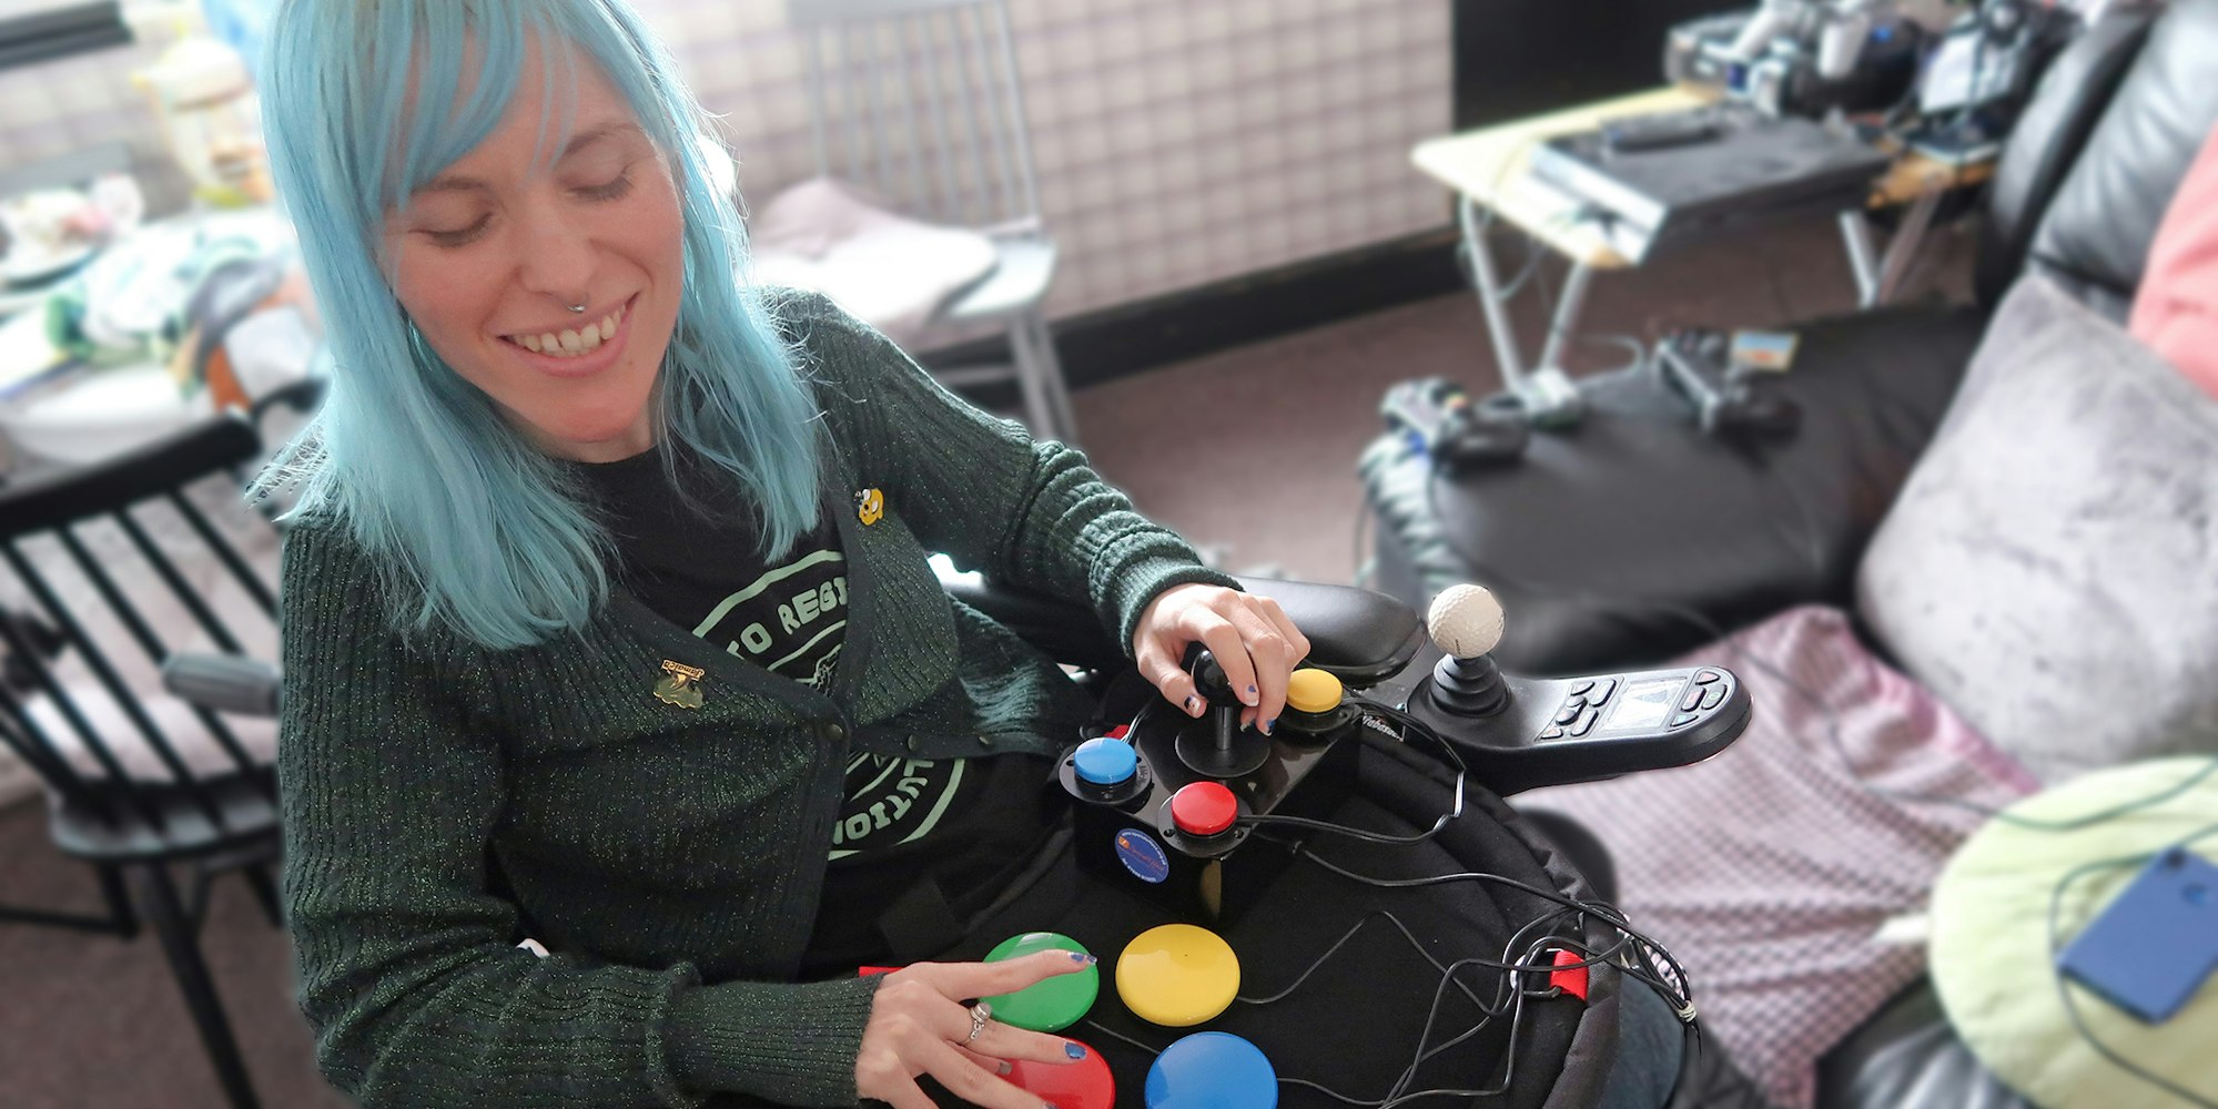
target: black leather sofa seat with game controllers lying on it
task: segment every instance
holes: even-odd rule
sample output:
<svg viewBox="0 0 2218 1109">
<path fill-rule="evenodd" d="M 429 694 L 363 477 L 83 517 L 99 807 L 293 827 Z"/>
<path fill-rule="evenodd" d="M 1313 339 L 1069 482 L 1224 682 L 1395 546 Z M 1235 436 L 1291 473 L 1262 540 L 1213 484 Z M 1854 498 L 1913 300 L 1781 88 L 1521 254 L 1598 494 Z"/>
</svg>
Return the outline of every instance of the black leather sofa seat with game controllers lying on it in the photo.
<svg viewBox="0 0 2218 1109">
<path fill-rule="evenodd" d="M 1785 606 L 1845 606 L 1856 559 L 1925 450 L 1978 344 L 1967 306 L 1901 306 L 1801 328 L 1779 386 L 1803 408 L 1781 446 L 1703 437 L 1677 393 L 1593 379 L 1588 419 L 1522 464 L 1431 479 L 1366 452 L 1377 586 L 1422 608 L 1455 581 L 1495 590 L 1519 674 L 1652 663 Z"/>
</svg>

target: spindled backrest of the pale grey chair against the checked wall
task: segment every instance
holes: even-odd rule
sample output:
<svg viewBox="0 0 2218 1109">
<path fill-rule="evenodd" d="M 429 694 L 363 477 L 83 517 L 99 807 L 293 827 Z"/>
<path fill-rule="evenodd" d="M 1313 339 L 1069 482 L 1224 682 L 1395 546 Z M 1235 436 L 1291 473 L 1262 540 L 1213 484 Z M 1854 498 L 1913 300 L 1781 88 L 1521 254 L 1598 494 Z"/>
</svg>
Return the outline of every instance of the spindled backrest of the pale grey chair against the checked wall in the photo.
<svg viewBox="0 0 2218 1109">
<path fill-rule="evenodd" d="M 1040 226 L 1005 0 L 787 0 L 816 173 L 938 224 Z"/>
</svg>

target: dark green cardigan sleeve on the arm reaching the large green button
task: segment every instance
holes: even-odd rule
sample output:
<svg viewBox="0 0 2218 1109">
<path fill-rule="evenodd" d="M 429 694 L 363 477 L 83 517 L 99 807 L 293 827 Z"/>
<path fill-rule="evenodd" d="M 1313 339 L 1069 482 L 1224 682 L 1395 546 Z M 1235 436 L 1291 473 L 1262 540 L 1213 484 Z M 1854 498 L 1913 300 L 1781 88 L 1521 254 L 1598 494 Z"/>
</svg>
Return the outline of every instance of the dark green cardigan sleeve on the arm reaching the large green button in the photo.
<svg viewBox="0 0 2218 1109">
<path fill-rule="evenodd" d="M 368 1109 L 854 1105 L 878 978 L 703 987 L 692 965 L 515 947 L 486 874 L 506 785 L 468 723 L 477 679 L 441 637 L 384 628 L 364 561 L 304 526 L 282 581 L 284 896 L 326 1078 Z"/>
</svg>

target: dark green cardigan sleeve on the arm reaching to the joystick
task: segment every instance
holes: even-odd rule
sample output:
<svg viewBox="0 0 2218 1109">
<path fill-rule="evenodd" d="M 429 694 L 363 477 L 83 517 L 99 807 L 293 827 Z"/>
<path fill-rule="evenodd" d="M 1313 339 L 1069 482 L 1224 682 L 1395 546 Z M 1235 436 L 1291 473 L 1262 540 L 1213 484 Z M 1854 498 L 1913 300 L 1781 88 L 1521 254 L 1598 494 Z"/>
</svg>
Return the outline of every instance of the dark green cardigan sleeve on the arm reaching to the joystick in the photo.
<svg viewBox="0 0 2218 1109">
<path fill-rule="evenodd" d="M 1162 590 L 1240 588 L 1149 523 L 1087 457 L 965 404 L 869 324 L 818 293 L 792 293 L 787 319 L 814 359 L 856 479 L 929 548 L 1020 590 L 1091 606 L 1131 654 L 1133 625 Z"/>
</svg>

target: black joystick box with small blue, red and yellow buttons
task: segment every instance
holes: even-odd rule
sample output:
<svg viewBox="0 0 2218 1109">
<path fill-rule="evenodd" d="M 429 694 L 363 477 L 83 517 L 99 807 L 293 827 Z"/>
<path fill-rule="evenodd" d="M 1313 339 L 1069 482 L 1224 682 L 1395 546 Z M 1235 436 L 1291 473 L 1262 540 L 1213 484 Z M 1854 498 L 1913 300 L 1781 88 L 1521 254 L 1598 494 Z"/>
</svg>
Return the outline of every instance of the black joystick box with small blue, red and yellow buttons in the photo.
<svg viewBox="0 0 2218 1109">
<path fill-rule="evenodd" d="M 1355 781 L 1360 712 L 1340 679 L 1295 670 L 1273 734 L 1240 728 L 1224 670 L 1198 652 L 1209 701 L 1187 716 L 1149 701 L 1122 736 L 1089 739 L 1058 767 L 1076 810 L 1078 865 L 1202 923 L 1233 920 L 1291 852 L 1247 847 L 1258 816 L 1331 816 Z"/>
</svg>

